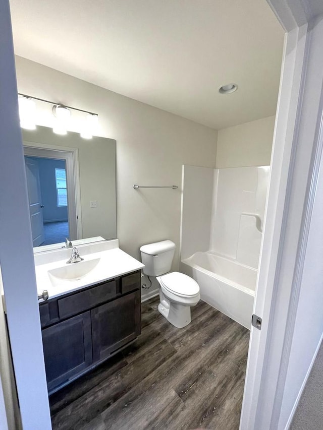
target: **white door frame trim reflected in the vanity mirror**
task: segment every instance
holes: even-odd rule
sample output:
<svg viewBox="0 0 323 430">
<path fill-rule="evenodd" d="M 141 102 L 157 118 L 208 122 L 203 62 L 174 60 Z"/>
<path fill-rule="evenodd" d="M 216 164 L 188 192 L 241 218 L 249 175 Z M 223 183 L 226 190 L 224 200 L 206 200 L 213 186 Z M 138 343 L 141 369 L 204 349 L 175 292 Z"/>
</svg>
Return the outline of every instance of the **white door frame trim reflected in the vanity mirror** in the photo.
<svg viewBox="0 0 323 430">
<path fill-rule="evenodd" d="M 28 157 L 65 160 L 70 240 L 82 239 L 81 188 L 77 148 L 24 141 Z M 41 247 L 39 247 L 41 250 Z"/>
</svg>

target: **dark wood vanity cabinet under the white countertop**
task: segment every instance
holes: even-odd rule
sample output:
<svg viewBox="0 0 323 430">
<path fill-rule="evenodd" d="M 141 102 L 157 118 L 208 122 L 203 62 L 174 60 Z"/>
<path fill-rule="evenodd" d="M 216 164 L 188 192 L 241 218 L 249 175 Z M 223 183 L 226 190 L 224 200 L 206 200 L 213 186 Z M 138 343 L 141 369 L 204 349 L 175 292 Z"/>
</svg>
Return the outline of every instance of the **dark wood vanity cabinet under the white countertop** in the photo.
<svg viewBox="0 0 323 430">
<path fill-rule="evenodd" d="M 140 271 L 40 303 L 48 392 L 140 334 Z"/>
</svg>

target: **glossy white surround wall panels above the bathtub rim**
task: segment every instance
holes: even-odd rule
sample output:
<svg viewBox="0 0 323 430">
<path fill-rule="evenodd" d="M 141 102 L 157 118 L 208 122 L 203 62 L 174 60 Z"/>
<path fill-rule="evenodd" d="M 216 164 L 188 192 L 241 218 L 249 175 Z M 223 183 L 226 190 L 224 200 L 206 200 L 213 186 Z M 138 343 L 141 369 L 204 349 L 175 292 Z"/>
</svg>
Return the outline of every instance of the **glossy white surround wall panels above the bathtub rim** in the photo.
<svg viewBox="0 0 323 430">
<path fill-rule="evenodd" d="M 269 171 L 183 166 L 181 260 L 213 251 L 258 268 Z"/>
</svg>

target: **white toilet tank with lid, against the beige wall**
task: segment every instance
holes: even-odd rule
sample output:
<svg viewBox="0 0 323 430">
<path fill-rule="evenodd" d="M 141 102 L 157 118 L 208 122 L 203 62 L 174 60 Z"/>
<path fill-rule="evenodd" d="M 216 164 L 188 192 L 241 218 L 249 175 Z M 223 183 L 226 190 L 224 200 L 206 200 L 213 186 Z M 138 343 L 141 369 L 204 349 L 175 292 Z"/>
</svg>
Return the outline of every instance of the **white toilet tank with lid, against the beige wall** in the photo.
<svg viewBox="0 0 323 430">
<path fill-rule="evenodd" d="M 148 276 L 160 276 L 170 272 L 176 245 L 171 240 L 142 245 L 141 261 L 145 265 L 143 273 Z"/>
</svg>

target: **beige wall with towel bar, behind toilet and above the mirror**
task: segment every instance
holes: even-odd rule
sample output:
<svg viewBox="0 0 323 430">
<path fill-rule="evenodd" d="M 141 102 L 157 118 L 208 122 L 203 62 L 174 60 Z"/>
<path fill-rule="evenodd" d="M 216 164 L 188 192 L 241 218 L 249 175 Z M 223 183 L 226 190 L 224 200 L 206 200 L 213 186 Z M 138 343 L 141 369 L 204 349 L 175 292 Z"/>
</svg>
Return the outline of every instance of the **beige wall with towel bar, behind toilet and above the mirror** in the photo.
<svg viewBox="0 0 323 430">
<path fill-rule="evenodd" d="M 19 92 L 99 114 L 98 134 L 117 141 L 120 247 L 139 258 L 140 245 L 169 238 L 178 268 L 182 164 L 215 167 L 217 131 L 21 57 L 16 69 Z M 136 191 L 134 183 L 179 189 Z"/>
</svg>

